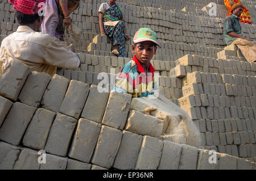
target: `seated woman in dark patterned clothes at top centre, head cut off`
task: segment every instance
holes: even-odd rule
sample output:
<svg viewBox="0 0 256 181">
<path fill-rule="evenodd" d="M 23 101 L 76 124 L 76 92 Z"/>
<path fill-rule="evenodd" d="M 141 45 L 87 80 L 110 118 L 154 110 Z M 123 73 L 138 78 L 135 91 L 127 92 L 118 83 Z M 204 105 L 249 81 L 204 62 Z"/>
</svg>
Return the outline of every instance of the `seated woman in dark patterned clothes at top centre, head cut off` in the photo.
<svg viewBox="0 0 256 181">
<path fill-rule="evenodd" d="M 126 35 L 125 23 L 123 22 L 123 14 L 116 0 L 109 0 L 109 2 L 102 3 L 98 10 L 99 24 L 101 36 L 108 36 L 113 39 L 113 50 L 111 53 L 116 54 L 118 57 L 126 57 L 125 41 L 130 39 Z"/>
</svg>

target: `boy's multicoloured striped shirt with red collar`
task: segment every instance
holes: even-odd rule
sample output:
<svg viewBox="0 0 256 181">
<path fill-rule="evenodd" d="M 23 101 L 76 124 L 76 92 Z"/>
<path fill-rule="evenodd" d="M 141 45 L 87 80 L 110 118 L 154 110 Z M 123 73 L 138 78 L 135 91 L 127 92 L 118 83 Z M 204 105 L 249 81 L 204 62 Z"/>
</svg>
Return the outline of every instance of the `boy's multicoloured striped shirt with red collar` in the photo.
<svg viewBox="0 0 256 181">
<path fill-rule="evenodd" d="M 133 95 L 133 98 L 146 97 L 154 94 L 153 90 L 158 89 L 154 76 L 155 69 L 150 63 L 146 75 L 141 63 L 134 56 L 121 69 L 113 90 Z"/>
</svg>

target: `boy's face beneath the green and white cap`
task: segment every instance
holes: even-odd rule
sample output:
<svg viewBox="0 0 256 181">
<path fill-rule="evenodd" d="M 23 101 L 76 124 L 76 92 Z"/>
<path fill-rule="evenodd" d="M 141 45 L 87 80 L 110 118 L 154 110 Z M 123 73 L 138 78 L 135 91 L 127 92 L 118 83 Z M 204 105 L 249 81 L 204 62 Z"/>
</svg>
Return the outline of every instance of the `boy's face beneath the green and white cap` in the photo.
<svg viewBox="0 0 256 181">
<path fill-rule="evenodd" d="M 154 54 L 156 54 L 156 45 L 152 41 L 143 41 L 141 43 L 137 43 L 136 47 L 132 45 L 133 54 L 136 55 L 139 62 L 142 64 L 148 64 Z"/>
</svg>

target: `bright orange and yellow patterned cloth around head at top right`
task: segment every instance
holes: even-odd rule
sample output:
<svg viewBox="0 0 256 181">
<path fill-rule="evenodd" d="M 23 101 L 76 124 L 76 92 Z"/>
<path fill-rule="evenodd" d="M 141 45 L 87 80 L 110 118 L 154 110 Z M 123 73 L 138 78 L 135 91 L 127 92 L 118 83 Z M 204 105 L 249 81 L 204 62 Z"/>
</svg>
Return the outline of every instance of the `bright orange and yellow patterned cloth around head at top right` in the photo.
<svg viewBox="0 0 256 181">
<path fill-rule="evenodd" d="M 233 2 L 232 2 L 233 1 Z M 230 3 L 232 2 L 232 3 Z M 226 15 L 226 17 L 228 16 L 231 16 L 232 15 L 232 5 L 235 5 L 235 4 L 240 4 L 243 6 L 243 4 L 241 3 L 240 0 L 224 0 L 224 3 L 226 5 L 226 9 L 228 9 L 229 13 L 228 15 Z M 251 24 L 251 16 L 250 16 L 250 12 L 249 10 L 246 9 L 245 6 L 243 6 L 243 12 L 240 16 L 240 23 L 249 23 Z"/>
</svg>

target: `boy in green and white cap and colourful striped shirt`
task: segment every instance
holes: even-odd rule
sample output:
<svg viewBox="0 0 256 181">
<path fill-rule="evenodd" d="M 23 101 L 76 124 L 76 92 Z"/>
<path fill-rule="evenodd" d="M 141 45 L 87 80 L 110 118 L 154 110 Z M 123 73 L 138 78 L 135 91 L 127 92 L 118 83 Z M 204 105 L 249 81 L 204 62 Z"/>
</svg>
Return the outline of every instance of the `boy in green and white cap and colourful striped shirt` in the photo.
<svg viewBox="0 0 256 181">
<path fill-rule="evenodd" d="M 146 97 L 154 94 L 158 88 L 154 72 L 150 63 L 157 46 L 156 33 L 148 28 L 139 29 L 133 39 L 132 50 L 134 57 L 128 62 L 118 75 L 113 90 L 133 95 L 133 98 Z"/>
</svg>

